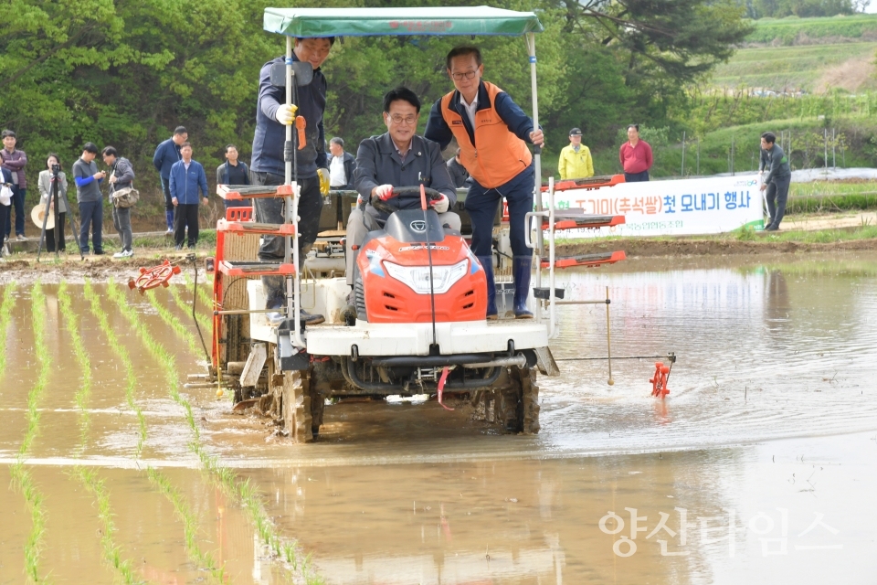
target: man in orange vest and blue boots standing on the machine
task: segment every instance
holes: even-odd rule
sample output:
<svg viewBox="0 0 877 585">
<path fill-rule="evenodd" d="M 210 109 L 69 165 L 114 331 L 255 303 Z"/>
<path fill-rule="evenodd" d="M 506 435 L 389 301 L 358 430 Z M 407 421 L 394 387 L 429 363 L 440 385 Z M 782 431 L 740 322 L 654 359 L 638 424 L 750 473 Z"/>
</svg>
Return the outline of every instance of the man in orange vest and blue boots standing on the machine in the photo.
<svg viewBox="0 0 877 585">
<path fill-rule="evenodd" d="M 509 205 L 509 238 L 512 243 L 514 316 L 532 319 L 527 309 L 533 251 L 524 241 L 524 217 L 533 210 L 533 155 L 527 143 L 544 145 L 542 130 L 535 128 L 509 94 L 482 81 L 481 51 L 458 47 L 448 53 L 448 75 L 454 91 L 443 96 L 429 112 L 424 136 L 444 150 L 451 138 L 460 145 L 460 161 L 472 177 L 466 210 L 472 219 L 472 252 L 487 273 L 487 318 L 496 319 L 496 285 L 493 282 L 493 218 L 505 197 Z"/>
</svg>

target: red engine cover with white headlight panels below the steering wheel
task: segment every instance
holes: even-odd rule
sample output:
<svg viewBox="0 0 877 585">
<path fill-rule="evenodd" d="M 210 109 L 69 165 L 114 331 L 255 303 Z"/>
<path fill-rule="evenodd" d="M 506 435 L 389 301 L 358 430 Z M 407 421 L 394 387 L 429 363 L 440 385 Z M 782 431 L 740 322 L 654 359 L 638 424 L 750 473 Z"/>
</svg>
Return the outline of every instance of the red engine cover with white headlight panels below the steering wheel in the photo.
<svg viewBox="0 0 877 585">
<path fill-rule="evenodd" d="M 436 322 L 481 321 L 487 317 L 487 277 L 469 245 L 459 236 L 431 244 L 433 268 L 467 261 L 466 272 L 446 293 L 436 293 Z M 415 292 L 390 275 L 386 261 L 403 267 L 428 267 L 422 243 L 403 243 L 390 236 L 372 239 L 356 259 L 363 276 L 365 313 L 369 323 L 430 323 L 429 293 Z M 439 284 L 439 279 L 434 282 Z"/>
</svg>

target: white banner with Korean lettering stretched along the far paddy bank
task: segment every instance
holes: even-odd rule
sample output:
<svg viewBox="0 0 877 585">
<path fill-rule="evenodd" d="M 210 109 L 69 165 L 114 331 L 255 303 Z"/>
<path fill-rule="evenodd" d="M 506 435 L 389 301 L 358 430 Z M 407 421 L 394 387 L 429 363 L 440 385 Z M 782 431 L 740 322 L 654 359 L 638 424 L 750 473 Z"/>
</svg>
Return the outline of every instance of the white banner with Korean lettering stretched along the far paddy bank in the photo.
<svg viewBox="0 0 877 585">
<path fill-rule="evenodd" d="M 555 191 L 555 208 L 581 207 L 586 214 L 624 216 L 613 228 L 568 229 L 556 238 L 599 236 L 691 236 L 764 229 L 758 176 L 621 183 L 599 189 Z M 543 193 L 548 206 L 548 194 Z"/>
</svg>

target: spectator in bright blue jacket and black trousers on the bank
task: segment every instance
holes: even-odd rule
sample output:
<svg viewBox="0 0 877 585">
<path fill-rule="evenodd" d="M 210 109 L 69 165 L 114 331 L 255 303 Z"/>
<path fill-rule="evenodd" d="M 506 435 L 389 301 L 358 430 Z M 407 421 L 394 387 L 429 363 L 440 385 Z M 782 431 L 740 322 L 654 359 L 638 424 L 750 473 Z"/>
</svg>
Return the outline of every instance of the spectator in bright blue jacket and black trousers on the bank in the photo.
<svg viewBox="0 0 877 585">
<path fill-rule="evenodd" d="M 207 204 L 207 176 L 201 163 L 192 160 L 192 144 L 180 144 L 183 157 L 171 167 L 171 202 L 176 207 L 174 218 L 174 243 L 177 250 L 183 250 L 188 228 L 187 248 L 195 248 L 198 243 L 198 189 L 201 200 Z"/>
</svg>

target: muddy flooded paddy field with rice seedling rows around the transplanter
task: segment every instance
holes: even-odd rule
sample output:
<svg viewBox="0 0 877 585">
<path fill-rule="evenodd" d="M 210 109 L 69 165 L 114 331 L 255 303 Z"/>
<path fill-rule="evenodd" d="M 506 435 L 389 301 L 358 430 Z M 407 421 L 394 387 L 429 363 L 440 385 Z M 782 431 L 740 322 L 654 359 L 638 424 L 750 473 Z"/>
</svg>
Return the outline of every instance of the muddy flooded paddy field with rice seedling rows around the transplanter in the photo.
<svg viewBox="0 0 877 585">
<path fill-rule="evenodd" d="M 182 388 L 190 288 L 5 284 L 0 583 L 877 579 L 872 252 L 562 277 L 609 287 L 614 356 L 679 356 L 667 399 L 654 359 L 559 361 L 536 436 L 343 402 L 305 445 Z M 603 305 L 558 315 L 555 358 L 606 355 Z"/>
</svg>

